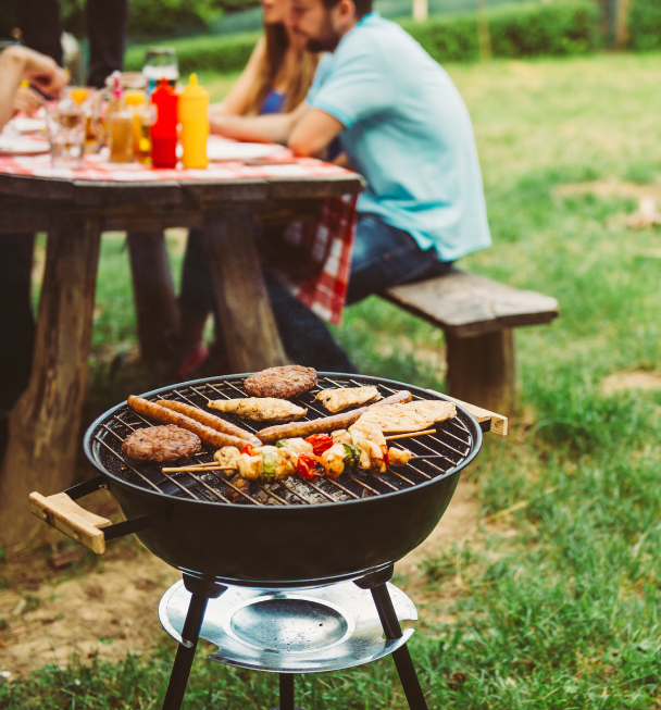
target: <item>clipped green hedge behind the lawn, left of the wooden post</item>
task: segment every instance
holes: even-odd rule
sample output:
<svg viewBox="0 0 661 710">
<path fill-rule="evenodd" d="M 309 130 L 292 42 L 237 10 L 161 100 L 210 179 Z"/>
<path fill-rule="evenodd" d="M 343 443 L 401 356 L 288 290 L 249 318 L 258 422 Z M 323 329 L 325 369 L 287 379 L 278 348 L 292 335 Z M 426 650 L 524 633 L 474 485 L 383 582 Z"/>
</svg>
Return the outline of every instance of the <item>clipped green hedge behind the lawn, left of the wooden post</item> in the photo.
<svg viewBox="0 0 661 710">
<path fill-rule="evenodd" d="M 657 0 L 661 1 L 661 0 Z M 434 17 L 417 24 L 400 21 L 437 62 L 479 58 L 475 14 Z M 494 57 L 582 54 L 597 46 L 598 14 L 588 0 L 520 4 L 488 12 Z M 191 71 L 233 72 L 242 68 L 258 35 L 205 36 L 175 40 L 182 74 Z M 126 67 L 139 70 L 146 46 L 132 47 Z"/>
</svg>

